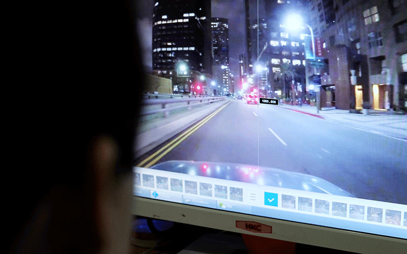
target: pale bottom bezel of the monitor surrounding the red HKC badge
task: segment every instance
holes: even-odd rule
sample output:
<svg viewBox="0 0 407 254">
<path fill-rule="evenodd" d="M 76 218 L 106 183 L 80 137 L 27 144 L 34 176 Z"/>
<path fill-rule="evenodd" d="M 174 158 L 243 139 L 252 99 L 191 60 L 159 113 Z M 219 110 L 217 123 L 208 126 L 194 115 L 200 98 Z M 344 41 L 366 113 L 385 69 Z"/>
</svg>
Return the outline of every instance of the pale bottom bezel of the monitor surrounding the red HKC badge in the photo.
<svg viewBox="0 0 407 254">
<path fill-rule="evenodd" d="M 328 228 L 282 219 L 223 211 L 181 203 L 132 197 L 133 215 L 225 230 L 260 237 L 308 244 L 358 253 L 404 253 L 407 239 Z M 236 228 L 236 221 L 255 221 L 272 227 L 271 234 L 252 233 Z"/>
</svg>

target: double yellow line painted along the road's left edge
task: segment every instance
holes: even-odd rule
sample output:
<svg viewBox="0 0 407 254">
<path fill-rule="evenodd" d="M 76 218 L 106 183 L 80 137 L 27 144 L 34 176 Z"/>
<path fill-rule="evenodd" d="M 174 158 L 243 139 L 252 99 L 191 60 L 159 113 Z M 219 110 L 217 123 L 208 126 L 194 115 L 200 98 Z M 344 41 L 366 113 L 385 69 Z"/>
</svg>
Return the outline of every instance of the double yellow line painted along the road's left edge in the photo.
<svg viewBox="0 0 407 254">
<path fill-rule="evenodd" d="M 217 109 L 215 112 L 210 114 L 209 116 L 203 118 L 201 121 L 196 123 L 194 126 L 192 126 L 190 129 L 188 129 L 186 132 L 184 132 L 182 135 L 178 136 L 176 139 L 172 140 L 162 148 L 160 148 L 158 151 L 150 155 L 148 158 L 137 164 L 136 167 L 142 167 L 142 168 L 150 168 L 152 165 L 154 165 L 160 158 L 162 158 L 165 154 L 167 154 L 169 151 L 174 149 L 176 146 L 178 146 L 182 141 L 184 141 L 186 138 L 191 136 L 192 133 L 194 133 L 196 130 L 199 129 L 200 126 L 205 124 L 209 119 L 211 119 L 214 115 L 216 115 L 219 111 L 224 109 L 227 104 L 223 105 L 219 109 Z M 166 149 L 166 150 L 165 150 Z M 165 150 L 165 151 L 164 151 Z M 155 157 L 155 158 L 154 158 Z M 148 163 L 150 161 L 150 163 Z"/>
</svg>

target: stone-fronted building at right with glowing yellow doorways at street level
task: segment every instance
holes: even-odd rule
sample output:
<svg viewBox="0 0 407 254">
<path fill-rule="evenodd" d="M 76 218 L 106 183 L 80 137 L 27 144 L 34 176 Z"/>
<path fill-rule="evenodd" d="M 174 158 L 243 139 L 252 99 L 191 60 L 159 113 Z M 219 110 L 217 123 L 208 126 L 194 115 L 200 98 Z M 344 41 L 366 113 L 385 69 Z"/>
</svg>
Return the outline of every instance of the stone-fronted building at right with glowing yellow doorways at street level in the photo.
<svg viewBox="0 0 407 254">
<path fill-rule="evenodd" d="M 313 19 L 310 24 L 321 31 L 327 52 L 329 68 L 321 76 L 322 107 L 335 106 L 365 113 L 367 109 L 405 110 L 406 3 L 328 2 L 315 0 L 309 6 L 310 16 L 323 14 L 325 18 L 334 19 L 324 22 Z"/>
</svg>

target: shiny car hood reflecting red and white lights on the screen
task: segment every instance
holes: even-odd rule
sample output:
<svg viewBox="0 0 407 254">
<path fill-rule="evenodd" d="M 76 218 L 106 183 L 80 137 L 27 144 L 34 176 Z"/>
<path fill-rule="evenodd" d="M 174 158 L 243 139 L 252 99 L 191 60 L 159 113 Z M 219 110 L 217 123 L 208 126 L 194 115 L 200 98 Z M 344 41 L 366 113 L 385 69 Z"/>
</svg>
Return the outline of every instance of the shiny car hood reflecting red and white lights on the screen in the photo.
<svg viewBox="0 0 407 254">
<path fill-rule="evenodd" d="M 308 192 L 354 197 L 338 186 L 316 176 L 244 164 L 193 161 L 168 161 L 152 169 L 253 183 Z"/>
</svg>

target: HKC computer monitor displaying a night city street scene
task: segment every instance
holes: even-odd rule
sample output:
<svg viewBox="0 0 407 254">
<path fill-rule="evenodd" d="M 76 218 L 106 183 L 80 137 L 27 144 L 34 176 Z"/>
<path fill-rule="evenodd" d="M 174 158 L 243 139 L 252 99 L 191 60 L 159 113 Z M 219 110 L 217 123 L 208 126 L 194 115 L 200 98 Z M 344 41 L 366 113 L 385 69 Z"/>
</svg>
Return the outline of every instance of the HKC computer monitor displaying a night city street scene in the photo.
<svg viewBox="0 0 407 254">
<path fill-rule="evenodd" d="M 312 3 L 143 3 L 133 214 L 405 252 L 406 41 L 365 31 L 405 23 L 405 3 Z"/>
</svg>

